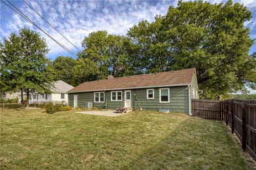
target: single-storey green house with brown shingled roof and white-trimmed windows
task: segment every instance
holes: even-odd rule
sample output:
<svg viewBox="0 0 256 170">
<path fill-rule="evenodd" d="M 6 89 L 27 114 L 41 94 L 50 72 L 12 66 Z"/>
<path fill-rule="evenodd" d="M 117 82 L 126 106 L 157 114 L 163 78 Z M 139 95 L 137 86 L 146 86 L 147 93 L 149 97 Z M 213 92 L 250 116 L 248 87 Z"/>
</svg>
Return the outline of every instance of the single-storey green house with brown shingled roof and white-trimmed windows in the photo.
<svg viewBox="0 0 256 170">
<path fill-rule="evenodd" d="M 191 99 L 198 99 L 196 69 L 125 76 L 84 82 L 68 91 L 71 107 L 165 110 L 191 114 Z"/>
</svg>

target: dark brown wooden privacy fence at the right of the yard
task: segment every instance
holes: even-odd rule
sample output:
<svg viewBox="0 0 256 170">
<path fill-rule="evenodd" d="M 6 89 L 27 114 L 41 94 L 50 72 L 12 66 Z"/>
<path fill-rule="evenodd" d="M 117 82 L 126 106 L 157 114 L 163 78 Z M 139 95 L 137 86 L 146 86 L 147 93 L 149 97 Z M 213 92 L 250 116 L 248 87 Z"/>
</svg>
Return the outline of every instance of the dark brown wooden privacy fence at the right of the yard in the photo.
<svg viewBox="0 0 256 170">
<path fill-rule="evenodd" d="M 256 100 L 192 99 L 192 116 L 225 122 L 256 160 Z"/>
</svg>

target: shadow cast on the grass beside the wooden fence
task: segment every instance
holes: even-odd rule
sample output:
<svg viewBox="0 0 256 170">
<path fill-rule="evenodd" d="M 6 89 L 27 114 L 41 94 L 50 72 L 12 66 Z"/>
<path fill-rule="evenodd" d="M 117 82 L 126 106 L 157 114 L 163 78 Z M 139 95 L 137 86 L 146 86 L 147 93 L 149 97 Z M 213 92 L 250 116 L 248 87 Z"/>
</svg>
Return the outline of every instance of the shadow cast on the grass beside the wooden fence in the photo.
<svg viewBox="0 0 256 170">
<path fill-rule="evenodd" d="M 188 118 L 121 169 L 249 169 L 222 122 Z"/>
</svg>

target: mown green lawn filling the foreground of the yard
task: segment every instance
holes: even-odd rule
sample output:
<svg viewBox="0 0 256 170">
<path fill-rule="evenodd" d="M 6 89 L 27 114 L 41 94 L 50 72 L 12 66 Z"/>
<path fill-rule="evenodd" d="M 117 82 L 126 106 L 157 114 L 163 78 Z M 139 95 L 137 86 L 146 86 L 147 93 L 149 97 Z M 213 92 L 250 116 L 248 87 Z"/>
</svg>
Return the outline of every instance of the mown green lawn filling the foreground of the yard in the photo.
<svg viewBox="0 0 256 170">
<path fill-rule="evenodd" d="M 0 169 L 249 169 L 222 122 L 1 110 Z"/>
</svg>

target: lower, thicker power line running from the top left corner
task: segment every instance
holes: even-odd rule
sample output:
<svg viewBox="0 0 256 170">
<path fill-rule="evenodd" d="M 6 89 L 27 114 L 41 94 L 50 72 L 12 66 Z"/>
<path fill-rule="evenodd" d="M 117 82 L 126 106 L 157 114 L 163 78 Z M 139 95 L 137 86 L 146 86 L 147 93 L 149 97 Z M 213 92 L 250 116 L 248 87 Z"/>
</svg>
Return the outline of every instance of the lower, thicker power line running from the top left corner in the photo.
<svg viewBox="0 0 256 170">
<path fill-rule="evenodd" d="M 11 2 L 9 2 L 7 0 L 8 3 L 10 3 L 12 5 L 12 7 L 14 7 L 15 9 L 13 9 L 12 7 L 10 7 L 7 3 L 5 3 L 3 0 L 1 0 L 1 2 L 3 2 L 5 5 L 7 5 L 7 7 L 9 7 L 10 9 L 14 10 L 16 13 L 18 13 L 20 16 L 22 16 L 22 18 L 25 18 L 28 22 L 30 22 L 31 24 L 33 24 L 35 27 L 37 27 L 38 29 L 40 29 L 41 31 L 43 31 L 43 29 L 41 29 L 41 27 L 39 27 L 37 24 L 35 24 L 32 20 L 30 20 L 30 18 L 28 18 L 28 16 L 26 16 L 25 14 L 23 14 L 20 10 L 18 10 L 14 5 L 12 5 Z M 17 11 L 18 10 L 18 11 Z M 20 13 L 19 13 L 20 12 Z M 68 52 L 69 54 L 71 54 L 72 56 L 74 56 L 75 58 L 77 57 L 76 54 L 74 54 L 74 52 L 72 52 L 71 50 L 69 50 L 68 48 L 66 48 L 66 46 L 60 44 L 60 42 L 56 41 L 53 37 L 51 37 L 51 35 L 47 34 L 45 31 L 43 31 L 43 33 L 45 33 L 48 37 L 50 37 L 54 42 L 56 42 L 59 46 L 61 46 L 62 48 L 64 48 L 64 50 L 66 50 L 66 52 Z"/>
</svg>

